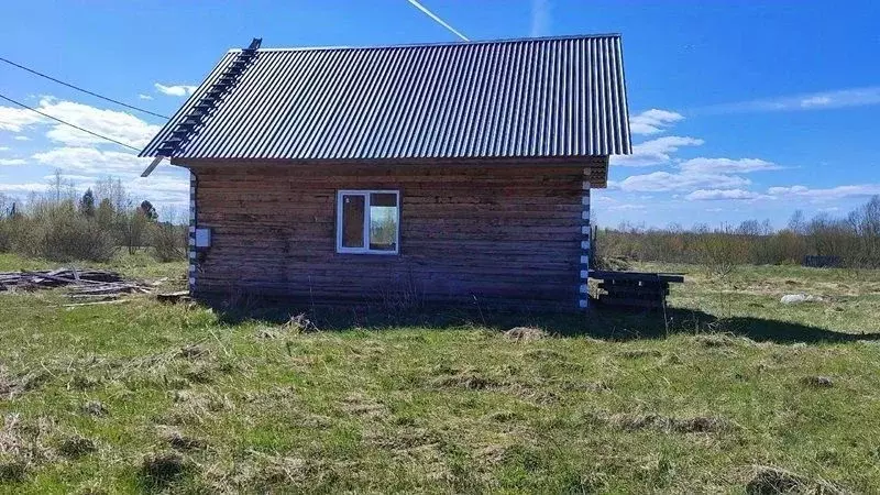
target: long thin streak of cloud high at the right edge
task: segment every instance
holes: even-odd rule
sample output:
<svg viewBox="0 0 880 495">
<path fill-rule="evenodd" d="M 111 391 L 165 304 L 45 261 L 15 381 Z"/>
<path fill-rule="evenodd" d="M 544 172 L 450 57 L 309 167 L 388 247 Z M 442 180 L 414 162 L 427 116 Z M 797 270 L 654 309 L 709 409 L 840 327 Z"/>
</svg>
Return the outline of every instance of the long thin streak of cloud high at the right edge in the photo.
<svg viewBox="0 0 880 495">
<path fill-rule="evenodd" d="M 880 105 L 880 86 L 713 105 L 694 109 L 693 113 L 780 112 L 866 107 L 870 105 Z"/>
</svg>

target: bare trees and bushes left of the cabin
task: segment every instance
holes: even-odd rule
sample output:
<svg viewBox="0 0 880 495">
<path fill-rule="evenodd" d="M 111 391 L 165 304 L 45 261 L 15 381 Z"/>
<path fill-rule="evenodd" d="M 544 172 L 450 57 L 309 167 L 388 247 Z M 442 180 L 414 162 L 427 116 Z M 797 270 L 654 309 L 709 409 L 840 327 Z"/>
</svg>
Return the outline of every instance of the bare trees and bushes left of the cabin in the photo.
<svg viewBox="0 0 880 495">
<path fill-rule="evenodd" d="M 107 262 L 121 251 L 144 251 L 167 262 L 184 260 L 187 243 L 185 224 L 160 221 L 155 207 L 135 201 L 118 178 L 79 194 L 56 173 L 45 193 L 32 193 L 26 201 L 0 195 L 0 252 Z"/>
</svg>

